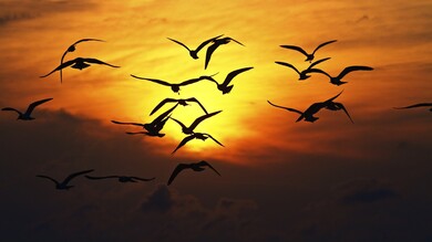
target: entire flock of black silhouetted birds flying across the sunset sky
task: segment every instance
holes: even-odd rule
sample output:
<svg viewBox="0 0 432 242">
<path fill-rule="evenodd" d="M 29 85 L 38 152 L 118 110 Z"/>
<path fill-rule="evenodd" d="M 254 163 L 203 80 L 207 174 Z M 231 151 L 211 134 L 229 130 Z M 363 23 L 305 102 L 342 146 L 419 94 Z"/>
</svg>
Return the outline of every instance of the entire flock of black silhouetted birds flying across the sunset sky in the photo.
<svg viewBox="0 0 432 242">
<path fill-rule="evenodd" d="M 200 50 L 203 50 L 205 46 L 207 46 L 207 50 L 206 50 L 206 59 L 205 59 L 205 63 L 204 63 L 204 69 L 206 70 L 208 64 L 209 64 L 209 61 L 212 59 L 212 55 L 214 54 L 214 52 L 216 51 L 216 49 L 218 49 L 220 45 L 224 45 L 224 44 L 228 44 L 230 42 L 235 42 L 239 45 L 243 45 L 243 43 L 229 38 L 229 36 L 225 36 L 223 38 L 223 34 L 222 35 L 217 35 L 215 38 L 212 38 L 212 39 L 208 39 L 204 42 L 202 42 L 195 50 L 192 50 L 191 48 L 188 48 L 186 44 L 177 41 L 177 40 L 174 40 L 174 39 L 171 39 L 168 38 L 168 40 L 173 41 L 174 43 L 177 43 L 179 45 L 182 45 L 183 48 L 185 48 L 187 51 L 188 51 L 188 54 L 191 55 L 192 59 L 196 60 L 196 59 L 199 59 L 198 56 L 198 52 Z M 74 52 L 76 50 L 76 45 L 79 43 L 82 43 L 82 42 L 88 42 L 88 41 L 95 41 L 95 42 L 104 42 L 103 40 L 99 40 L 99 39 L 82 39 L 82 40 L 79 40 L 76 42 L 74 42 L 73 44 L 71 44 L 66 51 L 63 53 L 63 55 L 61 56 L 61 60 L 60 60 L 60 65 L 56 66 L 54 70 L 52 70 L 50 73 L 45 74 L 45 75 L 42 75 L 40 77 L 47 77 L 49 75 L 51 75 L 52 73 L 54 72 L 60 72 L 60 82 L 63 81 L 63 75 L 62 75 L 62 70 L 65 69 L 65 67 L 72 67 L 72 69 L 79 69 L 79 70 L 83 70 L 83 69 L 86 69 L 89 66 L 91 66 L 92 64 L 99 64 L 99 65 L 106 65 L 106 66 L 110 66 L 110 67 L 120 67 L 117 65 L 112 65 L 110 63 L 106 63 L 106 62 L 103 62 L 103 61 L 100 61 L 97 59 L 94 59 L 94 57 L 76 57 L 76 59 L 73 59 L 73 60 L 70 60 L 70 61 L 66 61 L 66 62 L 63 62 L 64 61 L 64 57 L 68 53 L 70 52 Z M 318 60 L 316 62 L 312 63 L 312 61 L 315 60 L 315 54 L 316 52 L 325 46 L 325 45 L 328 45 L 330 43 L 333 43 L 336 42 L 336 40 L 332 40 L 332 41 L 328 41 L 328 42 L 325 42 L 325 43 L 321 43 L 319 44 L 315 50 L 313 52 L 311 53 L 308 53 L 306 52 L 304 49 L 299 48 L 299 46 L 296 46 L 296 45 L 280 45 L 281 48 L 284 49 L 288 49 L 288 50 L 294 50 L 294 51 L 298 51 L 300 52 L 301 54 L 304 54 L 306 56 L 306 62 L 309 62 L 310 65 L 306 69 L 306 70 L 302 70 L 302 71 L 299 71 L 296 66 L 294 66 L 292 64 L 290 63 L 287 63 L 287 62 L 280 62 L 280 61 L 276 61 L 275 63 L 276 64 L 279 64 L 279 65 L 282 65 L 282 66 L 287 66 L 291 70 L 294 70 L 296 73 L 299 74 L 299 81 L 305 81 L 307 78 L 309 78 L 311 76 L 311 74 L 313 73 L 319 73 L 319 74 L 323 74 L 326 76 L 329 77 L 330 80 L 330 83 L 333 84 L 333 85 L 342 85 L 342 84 L 346 84 L 347 82 L 342 81 L 342 78 L 351 73 L 351 72 L 354 72 L 354 71 L 372 71 L 373 69 L 370 67 L 370 66 L 363 66 L 363 65 L 352 65 L 352 66 L 347 66 L 344 67 L 337 76 L 332 76 L 330 74 L 328 74 L 327 72 L 320 70 L 320 69 L 317 69 L 316 66 L 325 61 L 328 61 L 330 57 L 326 57 L 326 59 L 321 59 L 321 60 Z M 137 78 L 137 80 L 143 80 L 143 81 L 148 81 L 148 82 L 153 82 L 153 83 L 156 83 L 156 84 L 160 84 L 160 85 L 163 85 L 163 86 L 168 86 L 171 87 L 171 90 L 174 92 L 174 93 L 177 93 L 179 94 L 179 91 L 181 91 L 181 87 L 182 86 L 186 86 L 186 85 L 191 85 L 191 84 L 195 84 L 195 83 L 198 83 L 200 81 L 209 81 L 212 83 L 215 83 L 216 84 L 216 87 L 218 91 L 220 91 L 223 94 L 228 94 L 230 93 L 230 91 L 233 90 L 234 85 L 232 84 L 232 81 L 237 76 L 239 75 L 240 73 L 244 73 L 246 71 L 249 71 L 251 70 L 253 67 L 243 67 L 243 69 L 238 69 L 238 70 L 235 70 L 235 71 L 232 71 L 229 74 L 227 74 L 227 76 L 225 77 L 225 80 L 219 83 L 217 82 L 213 76 L 215 76 L 216 74 L 213 74 L 213 75 L 203 75 L 203 76 L 199 76 L 199 77 L 195 77 L 195 78 L 191 78 L 191 80 L 186 80 L 186 81 L 183 81 L 181 83 L 171 83 L 171 82 L 166 82 L 166 81 L 163 81 L 163 80 L 157 80 L 157 78 L 148 78 L 148 77 L 141 77 L 141 76 L 136 76 L 136 75 L 133 75 L 131 74 L 132 77 L 134 78 Z M 317 119 L 319 119 L 318 117 L 313 116 L 316 115 L 319 111 L 321 109 L 329 109 L 329 111 L 340 111 L 342 109 L 348 118 L 351 120 L 351 123 L 353 123 L 351 116 L 349 115 L 347 108 L 343 106 L 343 104 L 341 103 L 337 103 L 335 102 L 335 99 L 342 93 L 343 91 L 341 91 L 339 94 L 337 94 L 336 96 L 327 99 L 327 101 L 323 101 L 323 102 L 318 102 L 318 103 L 313 103 L 311 104 L 306 111 L 301 112 L 301 111 L 298 111 L 298 109 L 295 109 L 295 108 L 291 108 L 291 107 L 285 107 L 285 106 L 280 106 L 280 105 L 277 105 L 277 104 L 274 104 L 271 103 L 270 101 L 267 101 L 271 106 L 276 107 L 276 108 L 282 108 L 282 109 L 286 109 L 288 112 L 294 112 L 294 113 L 297 113 L 299 114 L 300 116 L 298 117 L 298 119 L 296 122 L 300 122 L 300 120 L 305 120 L 305 122 L 316 122 Z M 27 111 L 25 112 L 21 112 L 21 111 L 18 111 L 13 107 L 4 107 L 2 108 L 2 111 L 12 111 L 12 112 L 16 112 L 18 113 L 18 118 L 17 119 L 21 119 L 21 120 L 32 120 L 34 119 L 31 114 L 33 113 L 34 108 L 41 104 L 44 104 L 47 102 L 50 102 L 52 101 L 53 98 L 44 98 L 44 99 L 40 99 L 40 101 L 37 101 L 37 102 L 33 102 L 31 103 Z M 164 128 L 166 122 L 168 119 L 175 122 L 176 124 L 178 124 L 178 126 L 182 128 L 182 133 L 184 135 L 186 135 L 183 140 L 178 144 L 178 146 L 172 151 L 172 154 L 175 154 L 179 148 L 182 148 L 183 146 L 185 146 L 188 141 L 193 140 L 193 139 L 200 139 L 200 140 L 206 140 L 207 138 L 210 138 L 212 140 L 214 140 L 216 144 L 218 144 L 219 146 L 224 146 L 222 143 L 219 143 L 216 138 L 214 138 L 212 135 L 207 134 L 207 133 L 198 133 L 198 131 L 195 131 L 195 128 L 204 120 L 206 120 L 207 118 L 210 118 L 217 114 L 219 114 L 222 111 L 217 111 L 217 112 L 212 112 L 212 113 L 208 113 L 207 109 L 204 107 L 204 105 L 195 97 L 188 97 L 188 98 L 165 98 L 163 99 L 161 103 L 158 103 L 153 109 L 152 112 L 150 113 L 150 115 L 153 115 L 155 113 L 157 113 L 161 108 L 163 108 L 165 105 L 167 104 L 171 104 L 171 103 L 174 103 L 175 105 L 168 109 L 166 109 L 165 112 L 163 112 L 162 114 L 160 114 L 154 120 L 152 120 L 151 123 L 147 123 L 147 124 L 141 124 L 141 123 L 133 123 L 133 122 L 117 122 L 117 120 L 112 120 L 113 124 L 116 124 L 116 125 L 132 125 L 132 126 L 138 126 L 138 127 L 142 127 L 144 129 L 144 131 L 126 131 L 126 134 L 128 135 L 136 135 L 136 134 L 144 134 L 144 135 L 147 135 L 147 136 L 153 136 L 153 137 L 164 137 L 165 134 L 162 134 L 162 129 Z M 200 109 L 204 112 L 204 115 L 197 117 L 191 125 L 185 125 L 182 120 L 178 120 L 174 117 L 172 117 L 172 113 L 173 111 L 178 106 L 178 105 L 182 105 L 182 106 L 187 106 L 189 105 L 191 103 L 196 103 Z M 432 107 L 432 103 L 420 103 L 420 104 L 413 104 L 413 105 L 409 105 L 409 106 L 403 106 L 403 107 L 394 107 L 397 109 L 405 109 L 405 108 L 415 108 L 415 107 Z M 432 108 L 430 108 L 430 111 L 432 112 Z M 220 173 L 210 165 L 208 164 L 207 161 L 205 160 L 202 160 L 199 162 L 191 162 L 191 164 L 178 164 L 175 169 L 173 170 L 168 181 L 167 181 L 167 185 L 169 186 L 174 179 L 178 176 L 179 172 L 182 172 L 183 170 L 185 169 L 192 169 L 194 171 L 203 171 L 205 170 L 205 168 L 210 168 L 212 170 L 214 170 L 218 176 L 220 176 Z M 71 173 L 63 181 L 58 181 L 56 179 L 52 178 L 52 177 L 49 177 L 49 176 L 45 176 L 45 175 L 38 175 L 37 177 L 40 177 L 40 178 L 44 178 L 44 179 L 49 179 L 51 180 L 52 182 L 55 183 L 55 188 L 56 189 L 70 189 L 72 188 L 73 186 L 69 185 L 70 181 L 75 178 L 75 177 L 80 177 L 80 176 L 85 176 L 88 179 L 91 179 L 91 180 L 100 180 L 100 179 L 117 179 L 120 182 L 137 182 L 137 181 L 152 181 L 154 180 L 155 178 L 140 178 L 140 177 L 133 177 L 133 176 L 102 176 L 102 177 L 93 177 L 93 176 L 88 176 L 88 173 L 90 172 L 93 172 L 94 170 L 93 169 L 90 169 L 90 170 L 83 170 L 83 171 L 78 171 L 78 172 L 74 172 L 74 173 Z"/>
</svg>

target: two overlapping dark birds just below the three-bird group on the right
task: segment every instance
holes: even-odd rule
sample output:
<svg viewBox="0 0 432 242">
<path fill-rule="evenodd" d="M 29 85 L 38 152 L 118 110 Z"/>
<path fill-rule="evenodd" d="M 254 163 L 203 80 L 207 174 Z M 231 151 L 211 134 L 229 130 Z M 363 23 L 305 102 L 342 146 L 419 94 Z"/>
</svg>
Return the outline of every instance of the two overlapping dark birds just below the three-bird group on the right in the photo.
<svg viewBox="0 0 432 242">
<path fill-rule="evenodd" d="M 310 105 L 305 112 L 300 112 L 298 109 L 290 108 L 290 107 L 279 106 L 279 105 L 272 104 L 270 101 L 267 101 L 267 102 L 271 106 L 300 114 L 300 117 L 296 122 L 300 122 L 300 120 L 305 119 L 305 122 L 313 123 L 313 122 L 319 119 L 318 117 L 315 117 L 313 115 L 317 114 L 320 109 L 326 108 L 326 109 L 330 109 L 330 111 L 342 109 L 347 114 L 347 116 L 350 118 L 351 123 L 353 123 L 351 116 L 349 115 L 348 111 L 344 108 L 343 104 L 333 102 L 333 99 L 336 99 L 342 92 L 340 92 L 338 95 L 331 97 L 330 99 Z"/>
</svg>

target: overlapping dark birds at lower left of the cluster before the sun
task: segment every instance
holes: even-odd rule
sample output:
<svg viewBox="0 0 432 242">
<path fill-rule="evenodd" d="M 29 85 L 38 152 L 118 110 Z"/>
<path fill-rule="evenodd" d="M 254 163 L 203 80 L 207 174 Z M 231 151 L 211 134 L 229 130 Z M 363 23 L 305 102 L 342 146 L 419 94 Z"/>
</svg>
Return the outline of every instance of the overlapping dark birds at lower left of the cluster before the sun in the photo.
<svg viewBox="0 0 432 242">
<path fill-rule="evenodd" d="M 156 117 L 152 123 L 150 124 L 140 124 L 140 123 L 124 123 L 124 122 L 116 122 L 116 120 L 111 120 L 112 123 L 114 124 L 117 124 L 117 125 L 135 125 L 135 126 L 141 126 L 143 127 L 144 129 L 146 129 L 146 131 L 135 131 L 135 133 L 132 133 L 132 131 L 126 131 L 127 135 L 138 135 L 138 134 L 144 134 L 144 135 L 147 135 L 147 136 L 155 136 L 155 137 L 164 137 L 165 134 L 161 134 L 160 131 L 164 128 L 165 126 L 165 123 L 171 117 L 171 113 L 178 106 L 178 104 L 176 104 L 174 107 L 169 108 L 168 111 L 166 111 L 165 113 L 161 114 L 158 117 Z"/>
</svg>

